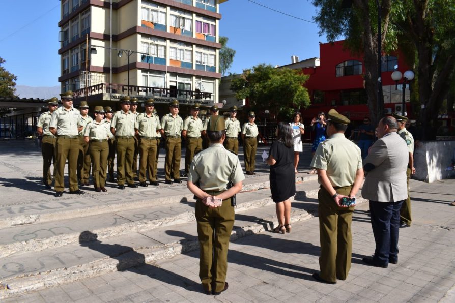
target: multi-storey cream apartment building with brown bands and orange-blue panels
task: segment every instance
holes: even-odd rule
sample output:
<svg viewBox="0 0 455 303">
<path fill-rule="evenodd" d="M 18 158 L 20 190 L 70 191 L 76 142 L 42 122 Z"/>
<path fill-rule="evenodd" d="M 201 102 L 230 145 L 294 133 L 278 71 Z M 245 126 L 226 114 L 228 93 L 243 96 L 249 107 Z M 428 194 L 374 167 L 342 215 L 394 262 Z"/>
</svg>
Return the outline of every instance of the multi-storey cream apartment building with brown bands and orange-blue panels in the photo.
<svg viewBox="0 0 455 303">
<path fill-rule="evenodd" d="M 219 4 L 227 0 L 62 0 L 62 91 L 90 105 L 122 95 L 218 103 Z M 88 45 L 88 46 L 87 46 Z"/>
</svg>

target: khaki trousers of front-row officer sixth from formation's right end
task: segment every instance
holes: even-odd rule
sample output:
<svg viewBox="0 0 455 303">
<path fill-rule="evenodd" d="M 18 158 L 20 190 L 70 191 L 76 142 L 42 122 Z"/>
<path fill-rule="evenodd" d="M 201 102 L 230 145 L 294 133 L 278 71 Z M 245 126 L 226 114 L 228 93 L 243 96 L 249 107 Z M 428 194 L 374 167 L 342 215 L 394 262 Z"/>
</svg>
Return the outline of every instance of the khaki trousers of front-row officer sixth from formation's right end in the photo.
<svg viewBox="0 0 455 303">
<path fill-rule="evenodd" d="M 140 139 L 139 144 L 139 182 L 147 180 L 147 171 L 149 172 L 149 180 L 156 181 L 156 139 Z"/>
</svg>

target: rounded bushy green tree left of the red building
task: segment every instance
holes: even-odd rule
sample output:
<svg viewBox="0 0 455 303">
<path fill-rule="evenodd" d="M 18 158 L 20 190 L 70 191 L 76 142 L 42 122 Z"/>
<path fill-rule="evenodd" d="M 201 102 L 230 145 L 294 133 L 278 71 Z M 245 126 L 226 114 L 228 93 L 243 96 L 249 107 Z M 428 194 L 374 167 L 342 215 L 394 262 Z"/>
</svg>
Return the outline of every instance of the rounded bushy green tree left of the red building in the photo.
<svg viewBox="0 0 455 303">
<path fill-rule="evenodd" d="M 231 89 L 237 99 L 248 98 L 251 110 L 269 110 L 272 119 L 289 119 L 310 104 L 308 90 L 303 86 L 308 78 L 300 70 L 260 64 L 243 70 L 232 80 Z"/>
</svg>

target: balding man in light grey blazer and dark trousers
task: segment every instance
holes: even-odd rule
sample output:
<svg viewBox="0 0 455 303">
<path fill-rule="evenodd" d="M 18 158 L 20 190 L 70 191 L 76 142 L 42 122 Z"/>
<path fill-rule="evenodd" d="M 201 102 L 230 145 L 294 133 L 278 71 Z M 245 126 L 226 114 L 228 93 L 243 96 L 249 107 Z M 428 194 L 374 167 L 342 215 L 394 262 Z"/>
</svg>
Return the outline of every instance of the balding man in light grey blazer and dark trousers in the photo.
<svg viewBox="0 0 455 303">
<path fill-rule="evenodd" d="M 363 161 L 366 173 L 362 196 L 369 199 L 371 225 L 376 250 L 363 258 L 368 265 L 387 268 L 398 262 L 400 208 L 408 197 L 406 169 L 408 146 L 396 133 L 394 117 L 384 117 L 378 124 L 378 138 Z"/>
</svg>

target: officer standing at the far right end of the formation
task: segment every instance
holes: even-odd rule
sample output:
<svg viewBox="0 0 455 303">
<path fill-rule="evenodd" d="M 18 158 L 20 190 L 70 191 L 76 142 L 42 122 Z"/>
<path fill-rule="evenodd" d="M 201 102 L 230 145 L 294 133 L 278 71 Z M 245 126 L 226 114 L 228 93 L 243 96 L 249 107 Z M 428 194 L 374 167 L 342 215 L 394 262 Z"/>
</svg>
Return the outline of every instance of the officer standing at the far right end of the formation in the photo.
<svg viewBox="0 0 455 303">
<path fill-rule="evenodd" d="M 245 157 L 245 170 L 247 175 L 255 175 L 256 150 L 258 148 L 258 126 L 254 123 L 256 115 L 253 111 L 248 113 L 248 122 L 242 127 L 243 155 Z"/>
</svg>

